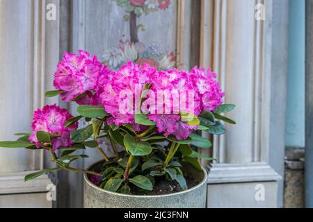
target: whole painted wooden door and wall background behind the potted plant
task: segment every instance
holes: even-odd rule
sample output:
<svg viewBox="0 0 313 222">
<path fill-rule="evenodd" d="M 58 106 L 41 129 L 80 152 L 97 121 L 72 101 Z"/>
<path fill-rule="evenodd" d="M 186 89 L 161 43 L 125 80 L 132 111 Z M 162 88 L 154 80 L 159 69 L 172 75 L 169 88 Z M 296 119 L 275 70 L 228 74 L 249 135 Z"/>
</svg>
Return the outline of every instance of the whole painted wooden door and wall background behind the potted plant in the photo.
<svg viewBox="0 0 313 222">
<path fill-rule="evenodd" d="M 313 166 L 304 160 L 305 149 L 306 160 L 313 157 L 305 147 L 312 137 L 311 130 L 305 136 L 312 125 L 305 126 L 306 104 L 307 119 L 313 110 L 309 96 L 305 103 L 305 56 L 313 56 L 310 41 L 305 53 L 312 36 L 305 13 L 312 18 L 312 6 L 309 0 L 0 0 L 0 140 L 29 132 L 33 110 L 42 105 L 75 113 L 74 104 L 45 98 L 65 51 L 84 49 L 113 69 L 127 60 L 158 69 L 211 67 L 225 103 L 236 104 L 230 117 L 237 124 L 227 125 L 226 135 L 204 135 L 214 143 L 205 154 L 217 159 L 207 207 L 313 207 Z M 78 167 L 97 160 L 93 151 L 84 153 L 90 158 Z M 24 182 L 29 171 L 51 166 L 41 151 L 1 149 L 0 207 L 82 207 L 79 173 Z"/>
</svg>

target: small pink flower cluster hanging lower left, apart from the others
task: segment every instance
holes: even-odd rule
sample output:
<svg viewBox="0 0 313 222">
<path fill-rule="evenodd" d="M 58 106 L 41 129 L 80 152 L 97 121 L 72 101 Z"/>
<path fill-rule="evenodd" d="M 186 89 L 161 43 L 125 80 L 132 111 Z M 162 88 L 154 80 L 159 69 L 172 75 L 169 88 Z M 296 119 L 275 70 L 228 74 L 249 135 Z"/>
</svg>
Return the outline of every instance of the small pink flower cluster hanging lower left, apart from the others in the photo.
<svg viewBox="0 0 313 222">
<path fill-rule="evenodd" d="M 51 143 L 54 144 L 53 151 L 61 146 L 71 146 L 70 132 L 77 129 L 78 123 L 65 128 L 65 121 L 70 118 L 72 118 L 72 115 L 66 109 L 61 109 L 57 105 L 45 105 L 42 109 L 35 110 L 33 112 L 33 123 L 31 124 L 33 133 L 29 137 L 29 141 L 35 143 L 39 148 L 42 144 L 38 142 L 36 133 L 45 131 L 58 135 L 51 139 Z"/>
</svg>

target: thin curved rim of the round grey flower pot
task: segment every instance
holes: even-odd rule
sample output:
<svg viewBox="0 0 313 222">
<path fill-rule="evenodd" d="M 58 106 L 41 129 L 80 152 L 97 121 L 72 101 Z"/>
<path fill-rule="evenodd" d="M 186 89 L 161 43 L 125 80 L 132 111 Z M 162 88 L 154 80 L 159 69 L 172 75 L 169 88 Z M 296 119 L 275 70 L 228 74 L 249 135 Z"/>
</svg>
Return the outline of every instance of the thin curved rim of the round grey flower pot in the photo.
<svg viewBox="0 0 313 222">
<path fill-rule="evenodd" d="M 91 167 L 93 167 L 95 164 L 102 162 L 102 160 L 99 160 L 93 164 L 90 164 L 90 166 L 88 167 L 88 169 L 90 169 Z M 198 183 L 198 185 L 195 185 L 194 187 L 191 187 L 191 189 L 186 189 L 183 191 L 179 191 L 176 193 L 172 193 L 172 194 L 161 194 L 161 195 L 133 195 L 133 194 L 120 194 L 117 192 L 112 192 L 112 191 L 108 191 L 106 189 L 102 189 L 101 187 L 98 187 L 96 185 L 94 185 L 92 182 L 90 182 L 90 180 L 88 179 L 87 173 L 83 173 L 83 180 L 85 180 L 85 182 L 88 183 L 89 186 L 98 189 L 99 191 L 104 191 L 108 194 L 113 194 L 113 195 L 118 195 L 118 196 L 125 196 L 125 197 L 141 197 L 141 198 L 158 198 L 158 197 L 166 197 L 166 196 L 175 196 L 175 195 L 179 195 L 179 194 L 184 194 L 187 193 L 189 191 L 193 191 L 194 189 L 198 189 L 198 187 L 201 187 L 204 183 L 207 183 L 207 171 L 204 169 L 204 167 L 202 167 L 202 171 L 204 173 L 204 177 L 203 180 L 201 182 Z"/>
</svg>

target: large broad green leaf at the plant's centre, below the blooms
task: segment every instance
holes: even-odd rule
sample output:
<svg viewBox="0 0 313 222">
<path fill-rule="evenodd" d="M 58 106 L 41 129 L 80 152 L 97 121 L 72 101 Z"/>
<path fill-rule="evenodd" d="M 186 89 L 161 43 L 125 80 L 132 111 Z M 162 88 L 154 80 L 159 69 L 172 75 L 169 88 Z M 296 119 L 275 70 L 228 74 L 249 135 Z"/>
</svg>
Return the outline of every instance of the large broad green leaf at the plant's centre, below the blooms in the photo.
<svg viewBox="0 0 313 222">
<path fill-rule="evenodd" d="M 124 137 L 126 150 L 132 155 L 148 155 L 152 152 L 152 146 L 147 142 L 138 142 L 137 139 L 127 133 Z"/>
</svg>

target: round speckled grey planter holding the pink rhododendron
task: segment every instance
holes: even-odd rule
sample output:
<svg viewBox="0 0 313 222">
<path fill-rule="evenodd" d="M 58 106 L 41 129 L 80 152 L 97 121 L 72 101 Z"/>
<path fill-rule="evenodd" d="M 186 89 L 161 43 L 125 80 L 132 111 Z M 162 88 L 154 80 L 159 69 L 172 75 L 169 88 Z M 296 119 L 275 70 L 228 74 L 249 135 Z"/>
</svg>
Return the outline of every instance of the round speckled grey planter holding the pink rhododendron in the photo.
<svg viewBox="0 0 313 222">
<path fill-rule="evenodd" d="M 101 162 L 92 164 L 88 169 L 97 171 Z M 84 179 L 84 206 L 86 208 L 204 208 L 207 199 L 207 171 L 196 171 L 185 166 L 185 171 L 198 181 L 195 187 L 173 194 L 127 195 L 106 191 L 95 186 L 86 173 Z"/>
</svg>

